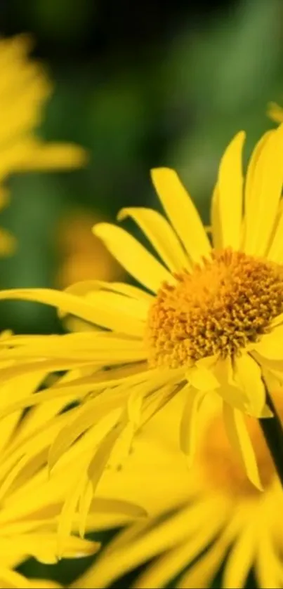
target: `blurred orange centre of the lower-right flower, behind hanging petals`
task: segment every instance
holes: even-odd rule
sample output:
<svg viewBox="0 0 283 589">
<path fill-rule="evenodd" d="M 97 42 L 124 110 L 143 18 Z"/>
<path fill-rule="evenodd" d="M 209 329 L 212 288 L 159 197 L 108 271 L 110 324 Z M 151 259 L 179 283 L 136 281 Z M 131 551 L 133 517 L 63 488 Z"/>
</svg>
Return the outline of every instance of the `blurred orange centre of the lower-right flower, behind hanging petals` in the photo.
<svg viewBox="0 0 283 589">
<path fill-rule="evenodd" d="M 283 418 L 282 390 L 272 395 L 275 400 L 280 418 Z M 275 480 L 275 467 L 265 443 L 263 433 L 258 421 L 246 417 L 246 425 L 249 430 L 251 442 L 254 446 L 258 471 L 260 473 L 263 489 L 268 489 Z M 211 489 L 224 491 L 233 496 L 255 496 L 261 494 L 249 481 L 244 466 L 232 449 L 223 425 L 222 416 L 215 416 L 204 432 L 202 442 L 199 444 L 197 457 L 206 484 Z"/>
</svg>

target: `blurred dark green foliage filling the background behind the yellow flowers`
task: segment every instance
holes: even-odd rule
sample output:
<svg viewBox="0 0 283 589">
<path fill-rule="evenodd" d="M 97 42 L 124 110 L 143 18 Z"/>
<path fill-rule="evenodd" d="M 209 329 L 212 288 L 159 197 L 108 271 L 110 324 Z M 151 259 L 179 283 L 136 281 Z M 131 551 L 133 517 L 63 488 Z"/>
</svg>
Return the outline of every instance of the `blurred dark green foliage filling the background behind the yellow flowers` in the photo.
<svg viewBox="0 0 283 589">
<path fill-rule="evenodd" d="M 158 207 L 153 166 L 178 170 L 207 222 L 218 162 L 232 135 L 247 131 L 247 155 L 272 126 L 267 102 L 283 101 L 282 0 L 223 2 L 209 17 L 205 5 L 192 15 L 188 4 L 174 4 L 165 35 L 157 27 L 154 37 L 153 26 L 141 45 L 131 34 L 123 44 L 117 34 L 112 43 L 106 35 L 104 46 L 103 0 L 6 7 L 4 32 L 32 32 L 55 81 L 41 135 L 84 145 L 89 163 L 81 171 L 9 180 L 12 202 L 1 223 L 16 235 L 18 252 L 0 261 L 3 288 L 54 285 L 58 222 L 78 204 L 112 220 L 121 206 Z M 121 21 L 136 27 L 135 11 L 124 10 Z M 152 19 L 147 4 L 144 11 L 143 22 Z M 157 26 L 158 13 L 153 18 Z M 27 303 L 1 303 L 0 328 L 8 327 L 60 330 L 53 310 Z M 46 567 L 28 566 L 33 576 L 46 574 Z M 68 583 L 78 572 L 78 563 L 61 563 L 51 575 Z"/>
</svg>

